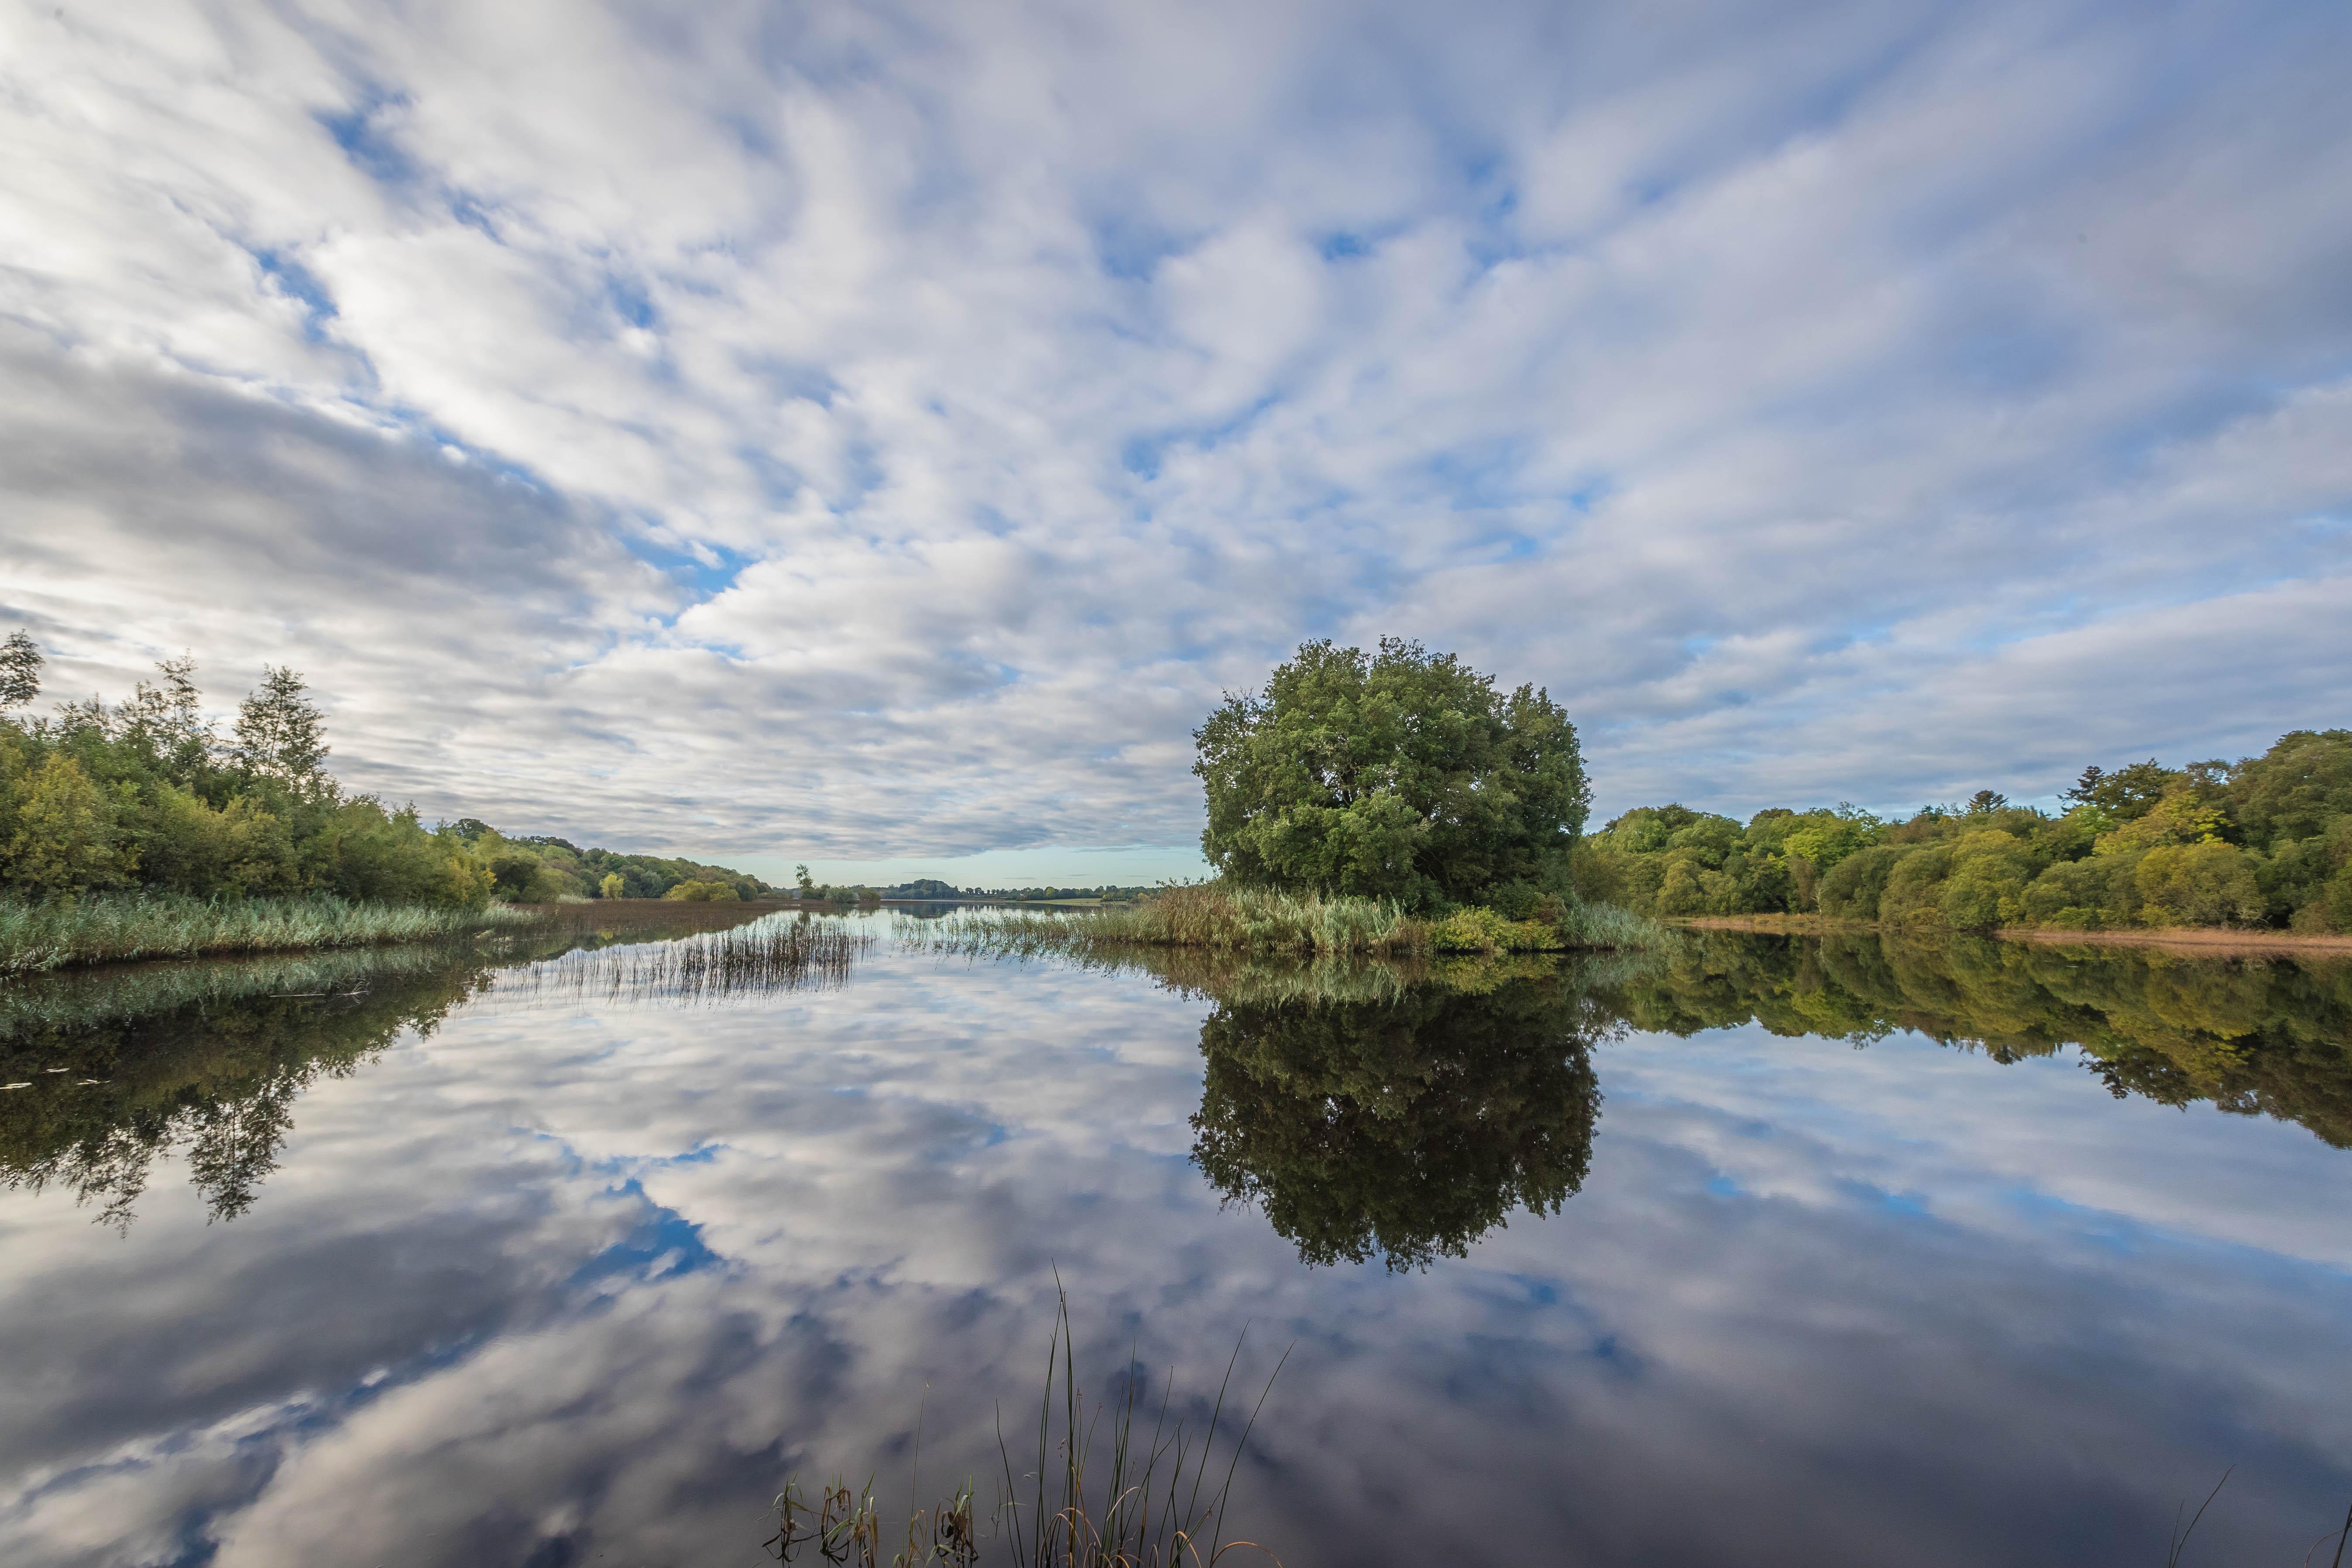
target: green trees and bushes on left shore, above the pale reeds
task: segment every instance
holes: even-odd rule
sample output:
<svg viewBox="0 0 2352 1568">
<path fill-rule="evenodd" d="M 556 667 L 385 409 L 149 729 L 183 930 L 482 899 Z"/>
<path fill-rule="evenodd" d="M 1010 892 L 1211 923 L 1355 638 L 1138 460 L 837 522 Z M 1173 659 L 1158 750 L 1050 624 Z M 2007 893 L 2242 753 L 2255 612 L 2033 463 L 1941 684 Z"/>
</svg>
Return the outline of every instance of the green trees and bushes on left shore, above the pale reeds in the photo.
<svg viewBox="0 0 2352 1568">
<path fill-rule="evenodd" d="M 327 719 L 301 675 L 270 668 L 221 736 L 193 658 L 167 658 L 129 701 L 26 717 L 42 656 L 0 642 L 0 891 L 56 898 L 162 891 L 195 898 L 332 893 L 480 907 L 492 898 L 757 898 L 741 872 L 499 835 L 463 818 L 343 790 Z M 680 893 L 684 889 L 684 893 Z"/>
</svg>

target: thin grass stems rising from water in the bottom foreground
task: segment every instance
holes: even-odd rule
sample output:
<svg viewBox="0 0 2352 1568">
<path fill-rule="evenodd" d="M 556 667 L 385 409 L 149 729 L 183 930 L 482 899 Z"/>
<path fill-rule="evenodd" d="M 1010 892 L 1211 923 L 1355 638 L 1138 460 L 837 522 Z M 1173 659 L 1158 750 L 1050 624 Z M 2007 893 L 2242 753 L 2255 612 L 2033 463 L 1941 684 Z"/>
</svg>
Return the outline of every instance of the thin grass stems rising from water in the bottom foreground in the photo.
<svg viewBox="0 0 2352 1568">
<path fill-rule="evenodd" d="M 1174 1375 L 1162 1389 L 1150 1432 L 1138 1432 L 1136 1418 L 1143 1413 L 1148 1387 L 1131 1373 L 1120 1380 L 1105 1429 L 1105 1410 L 1101 1406 L 1089 1410 L 1087 1392 L 1077 1382 L 1070 1298 L 1063 1293 L 1047 1349 L 1044 1394 L 1037 1401 L 1035 1469 L 1014 1472 L 1002 1418 L 997 1422 L 997 1458 L 1004 1467 L 997 1535 L 1007 1542 L 1014 1568 L 1214 1568 L 1240 1547 L 1265 1554 L 1279 1568 L 1282 1559 L 1265 1547 L 1225 1540 L 1225 1497 L 1242 1448 L 1258 1425 L 1258 1410 L 1265 1408 L 1265 1394 L 1282 1375 L 1289 1352 L 1258 1392 L 1258 1403 L 1225 1458 L 1225 1472 L 1209 1486 L 1216 1474 L 1211 1469 L 1216 1434 L 1225 1420 L 1225 1396 L 1232 1392 L 1240 1359 L 1242 1347 L 1235 1345 L 1216 1403 L 1197 1434 L 1190 1434 L 1181 1418 L 1169 1420 Z M 873 1481 L 863 1488 L 833 1481 L 823 1488 L 823 1500 L 809 1505 L 795 1476 L 786 1481 L 774 1507 L 776 1535 L 767 1547 L 776 1561 L 793 1563 L 802 1547 L 816 1547 L 828 1563 L 880 1568 L 882 1516 Z M 967 1568 L 978 1556 L 967 1483 L 941 1505 L 908 1516 L 906 1549 L 891 1556 L 891 1566 Z"/>
</svg>

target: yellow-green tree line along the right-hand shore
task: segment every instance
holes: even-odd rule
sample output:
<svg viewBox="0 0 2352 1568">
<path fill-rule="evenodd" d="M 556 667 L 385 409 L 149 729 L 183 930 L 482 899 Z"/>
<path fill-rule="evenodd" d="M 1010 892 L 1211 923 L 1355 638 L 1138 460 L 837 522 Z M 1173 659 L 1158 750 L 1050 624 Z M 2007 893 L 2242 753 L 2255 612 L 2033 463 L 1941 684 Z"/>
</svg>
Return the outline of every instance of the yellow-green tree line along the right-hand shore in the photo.
<svg viewBox="0 0 2352 1568">
<path fill-rule="evenodd" d="M 2352 731 L 2298 729 L 2241 762 L 2089 766 L 2063 799 L 2053 816 L 1978 790 L 1907 820 L 1642 806 L 1578 844 L 1573 875 L 1585 898 L 1658 917 L 2352 931 Z"/>
</svg>

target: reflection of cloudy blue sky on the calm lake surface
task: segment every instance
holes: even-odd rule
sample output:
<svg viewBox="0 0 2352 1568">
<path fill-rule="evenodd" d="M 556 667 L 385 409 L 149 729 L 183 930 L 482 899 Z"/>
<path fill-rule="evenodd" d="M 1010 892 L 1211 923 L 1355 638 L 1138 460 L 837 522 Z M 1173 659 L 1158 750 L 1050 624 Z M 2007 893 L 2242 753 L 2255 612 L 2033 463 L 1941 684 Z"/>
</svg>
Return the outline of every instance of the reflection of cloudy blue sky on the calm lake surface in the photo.
<svg viewBox="0 0 2352 1568">
<path fill-rule="evenodd" d="M 12 1194 L 0 1542 L 750 1561 L 793 1467 L 903 1486 L 922 1399 L 924 1474 L 985 1493 L 1056 1267 L 1103 1368 L 1298 1340 L 1235 1500 L 1294 1568 L 2138 1563 L 2232 1462 L 2211 1549 L 2298 1561 L 2352 1490 L 2347 1157 L 2300 1126 L 2117 1103 L 2072 1051 L 1578 1037 L 1557 1215 L 1310 1267 L 1192 1164 L 1218 1016 L 910 954 L 459 1006 L 313 1081 L 230 1225 L 174 1180 L 127 1237 Z"/>
</svg>

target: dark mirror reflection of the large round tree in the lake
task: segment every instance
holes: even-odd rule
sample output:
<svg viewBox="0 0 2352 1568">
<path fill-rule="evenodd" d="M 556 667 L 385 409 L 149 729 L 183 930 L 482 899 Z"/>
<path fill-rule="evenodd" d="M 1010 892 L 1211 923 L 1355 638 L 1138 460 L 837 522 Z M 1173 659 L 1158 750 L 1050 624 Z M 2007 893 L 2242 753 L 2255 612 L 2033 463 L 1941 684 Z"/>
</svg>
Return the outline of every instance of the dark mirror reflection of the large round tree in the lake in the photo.
<svg viewBox="0 0 2352 1568">
<path fill-rule="evenodd" d="M 1192 1159 L 1308 1262 L 1461 1258 L 1512 1208 L 1557 1213 L 1583 1185 L 1602 1027 L 1559 973 L 1228 999 L 1200 1030 Z"/>
</svg>

